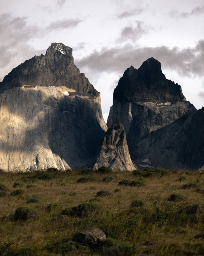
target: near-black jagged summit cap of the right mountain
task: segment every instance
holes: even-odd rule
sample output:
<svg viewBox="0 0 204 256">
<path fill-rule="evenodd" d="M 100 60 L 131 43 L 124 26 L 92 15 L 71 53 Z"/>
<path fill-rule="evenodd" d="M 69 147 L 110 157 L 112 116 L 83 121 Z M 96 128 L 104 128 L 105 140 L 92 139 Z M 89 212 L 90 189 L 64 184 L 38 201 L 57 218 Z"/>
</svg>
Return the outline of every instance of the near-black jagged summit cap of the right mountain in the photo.
<svg viewBox="0 0 204 256">
<path fill-rule="evenodd" d="M 185 100 L 179 84 L 166 79 L 153 57 L 139 67 L 129 67 L 119 79 L 113 98 L 119 102 L 178 102 Z"/>
</svg>

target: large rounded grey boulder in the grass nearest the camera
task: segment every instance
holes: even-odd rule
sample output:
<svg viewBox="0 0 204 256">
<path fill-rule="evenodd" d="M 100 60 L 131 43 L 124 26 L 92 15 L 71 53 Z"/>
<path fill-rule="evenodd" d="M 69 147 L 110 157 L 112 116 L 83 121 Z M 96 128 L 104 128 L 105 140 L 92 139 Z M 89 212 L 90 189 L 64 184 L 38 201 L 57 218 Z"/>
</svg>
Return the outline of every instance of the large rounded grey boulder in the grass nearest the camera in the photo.
<svg viewBox="0 0 204 256">
<path fill-rule="evenodd" d="M 105 241 L 106 235 L 103 230 L 99 228 L 85 228 L 84 230 L 77 232 L 72 240 L 78 243 L 94 246 Z"/>
</svg>

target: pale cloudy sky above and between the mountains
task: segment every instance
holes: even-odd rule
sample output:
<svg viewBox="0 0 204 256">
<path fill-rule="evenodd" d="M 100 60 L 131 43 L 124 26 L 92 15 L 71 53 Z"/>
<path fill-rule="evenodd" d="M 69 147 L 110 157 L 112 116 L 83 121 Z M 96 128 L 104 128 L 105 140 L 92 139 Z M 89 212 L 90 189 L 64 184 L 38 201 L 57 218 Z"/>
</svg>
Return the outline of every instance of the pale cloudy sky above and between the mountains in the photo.
<svg viewBox="0 0 204 256">
<path fill-rule="evenodd" d="M 204 0 L 0 0 L 0 81 L 52 42 L 73 48 L 104 120 L 124 71 L 150 57 L 204 106 Z"/>
</svg>

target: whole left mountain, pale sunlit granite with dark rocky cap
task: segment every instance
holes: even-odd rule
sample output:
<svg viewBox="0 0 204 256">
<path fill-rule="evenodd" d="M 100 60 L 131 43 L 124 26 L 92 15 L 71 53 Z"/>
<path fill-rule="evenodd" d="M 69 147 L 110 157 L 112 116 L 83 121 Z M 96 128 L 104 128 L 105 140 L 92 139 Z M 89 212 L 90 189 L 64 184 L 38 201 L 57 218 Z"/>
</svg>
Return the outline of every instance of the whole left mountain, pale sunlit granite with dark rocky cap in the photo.
<svg viewBox="0 0 204 256">
<path fill-rule="evenodd" d="M 52 44 L 0 83 L 0 169 L 92 167 L 106 130 L 100 93 L 70 47 Z"/>
</svg>

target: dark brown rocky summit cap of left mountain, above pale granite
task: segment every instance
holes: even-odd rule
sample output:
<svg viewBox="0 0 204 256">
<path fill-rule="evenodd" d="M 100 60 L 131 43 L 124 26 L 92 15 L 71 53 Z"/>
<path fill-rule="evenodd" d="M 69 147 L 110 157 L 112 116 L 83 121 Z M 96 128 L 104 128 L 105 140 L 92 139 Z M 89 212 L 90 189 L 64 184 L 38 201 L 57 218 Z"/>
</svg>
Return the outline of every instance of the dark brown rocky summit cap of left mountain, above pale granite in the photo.
<svg viewBox="0 0 204 256">
<path fill-rule="evenodd" d="M 52 43 L 45 55 L 34 56 L 12 69 L 0 83 L 0 92 L 23 86 L 66 86 L 82 95 L 100 95 L 75 66 L 72 48 L 62 43 Z"/>
</svg>

